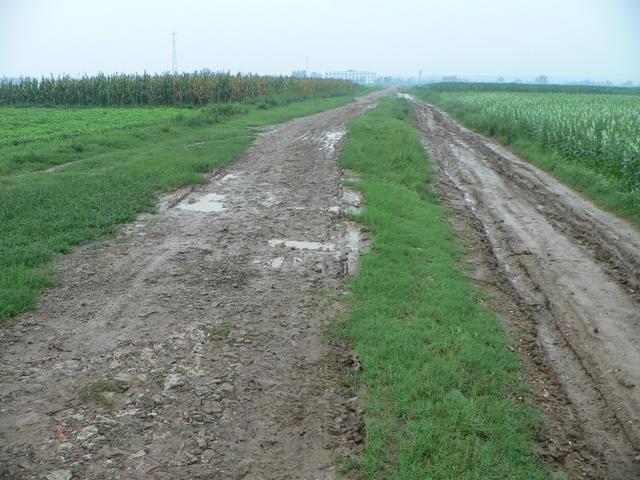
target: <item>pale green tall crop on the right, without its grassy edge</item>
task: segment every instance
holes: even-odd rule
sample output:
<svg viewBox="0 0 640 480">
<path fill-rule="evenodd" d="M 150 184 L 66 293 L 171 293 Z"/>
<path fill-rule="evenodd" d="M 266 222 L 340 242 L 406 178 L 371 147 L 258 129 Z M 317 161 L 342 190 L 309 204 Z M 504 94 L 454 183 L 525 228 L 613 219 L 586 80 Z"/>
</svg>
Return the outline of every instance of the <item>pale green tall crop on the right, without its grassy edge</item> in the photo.
<svg viewBox="0 0 640 480">
<path fill-rule="evenodd" d="M 441 93 L 437 103 L 479 115 L 490 133 L 525 134 L 640 192 L 640 96 Z"/>
</svg>

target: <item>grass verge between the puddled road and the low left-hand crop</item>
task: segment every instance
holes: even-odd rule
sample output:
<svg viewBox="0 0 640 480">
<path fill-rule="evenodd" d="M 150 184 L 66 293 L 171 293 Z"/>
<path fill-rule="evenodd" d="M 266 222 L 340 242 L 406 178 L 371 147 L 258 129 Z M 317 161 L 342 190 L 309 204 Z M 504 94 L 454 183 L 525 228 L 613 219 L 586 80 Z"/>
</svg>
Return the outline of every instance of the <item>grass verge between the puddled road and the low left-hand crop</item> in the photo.
<svg viewBox="0 0 640 480">
<path fill-rule="evenodd" d="M 251 144 L 255 127 L 344 105 L 352 98 L 246 106 L 245 113 L 234 112 L 224 122 L 220 112 L 213 112 L 215 121 L 209 121 L 211 112 L 194 111 L 190 115 L 200 120 L 163 120 L 83 137 L 85 148 L 72 157 L 76 163 L 60 170 L 0 176 L 0 323 L 35 304 L 56 255 L 152 211 L 161 191 L 203 182 L 202 172 L 230 163 Z M 24 112 L 29 115 L 28 109 Z M 80 139 L 61 135 L 16 145 L 13 153 L 37 150 L 40 161 L 30 169 L 42 168 L 67 162 L 70 141 Z"/>
</svg>

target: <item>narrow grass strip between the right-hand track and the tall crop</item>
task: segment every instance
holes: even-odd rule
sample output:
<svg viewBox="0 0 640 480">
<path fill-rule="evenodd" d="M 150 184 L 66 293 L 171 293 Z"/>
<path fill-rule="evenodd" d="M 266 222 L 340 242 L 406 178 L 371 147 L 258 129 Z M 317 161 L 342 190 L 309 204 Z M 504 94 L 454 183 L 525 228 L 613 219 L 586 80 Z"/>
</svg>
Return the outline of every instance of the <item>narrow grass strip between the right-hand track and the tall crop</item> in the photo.
<svg viewBox="0 0 640 480">
<path fill-rule="evenodd" d="M 526 131 L 509 122 L 467 110 L 456 101 L 456 96 L 460 95 L 458 93 L 439 93 L 424 88 L 413 89 L 411 93 L 450 113 L 467 128 L 496 138 L 511 151 L 582 193 L 595 204 L 640 227 L 640 190 L 630 188 L 623 179 L 568 159 L 554 149 L 544 148 Z"/>
</svg>

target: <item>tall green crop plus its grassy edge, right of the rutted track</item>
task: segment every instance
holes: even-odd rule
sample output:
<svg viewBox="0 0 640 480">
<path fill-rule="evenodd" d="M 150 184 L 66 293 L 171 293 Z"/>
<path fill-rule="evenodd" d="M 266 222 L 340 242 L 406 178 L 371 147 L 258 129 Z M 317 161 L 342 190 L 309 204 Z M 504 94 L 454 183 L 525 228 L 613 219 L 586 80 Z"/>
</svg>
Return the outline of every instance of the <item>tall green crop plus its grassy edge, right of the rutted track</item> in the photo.
<svg viewBox="0 0 640 480">
<path fill-rule="evenodd" d="M 434 84 L 411 93 L 640 225 L 640 90 Z"/>
</svg>

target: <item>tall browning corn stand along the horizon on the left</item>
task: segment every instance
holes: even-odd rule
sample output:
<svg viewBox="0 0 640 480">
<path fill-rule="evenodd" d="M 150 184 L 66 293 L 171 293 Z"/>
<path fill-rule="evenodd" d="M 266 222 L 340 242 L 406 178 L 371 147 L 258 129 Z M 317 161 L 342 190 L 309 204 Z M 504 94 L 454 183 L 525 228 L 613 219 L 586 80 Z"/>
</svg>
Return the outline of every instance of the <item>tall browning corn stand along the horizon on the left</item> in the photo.
<svg viewBox="0 0 640 480">
<path fill-rule="evenodd" d="M 205 105 L 278 95 L 353 93 L 344 80 L 184 73 L 25 78 L 0 81 L 0 105 Z"/>
</svg>

